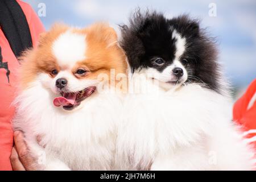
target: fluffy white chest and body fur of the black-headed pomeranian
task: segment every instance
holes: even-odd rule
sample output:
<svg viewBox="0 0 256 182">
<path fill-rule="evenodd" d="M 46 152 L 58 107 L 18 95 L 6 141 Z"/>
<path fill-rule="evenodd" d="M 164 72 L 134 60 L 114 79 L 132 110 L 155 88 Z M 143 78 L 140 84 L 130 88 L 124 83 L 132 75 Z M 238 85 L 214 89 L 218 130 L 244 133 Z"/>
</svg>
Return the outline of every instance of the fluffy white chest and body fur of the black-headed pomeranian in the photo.
<svg viewBox="0 0 256 182">
<path fill-rule="evenodd" d="M 252 168 L 229 98 L 198 84 L 166 92 L 135 77 L 130 88 L 135 83 L 141 87 L 127 95 L 118 127 L 118 169 Z"/>
</svg>

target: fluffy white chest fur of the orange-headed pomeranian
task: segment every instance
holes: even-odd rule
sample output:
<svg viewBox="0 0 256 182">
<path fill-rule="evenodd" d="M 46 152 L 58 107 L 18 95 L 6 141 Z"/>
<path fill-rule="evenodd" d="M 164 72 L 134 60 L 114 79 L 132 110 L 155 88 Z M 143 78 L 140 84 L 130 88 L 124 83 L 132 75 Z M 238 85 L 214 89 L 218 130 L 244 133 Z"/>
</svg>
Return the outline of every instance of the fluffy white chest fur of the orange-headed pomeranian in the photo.
<svg viewBox="0 0 256 182">
<path fill-rule="evenodd" d="M 121 109 L 115 94 L 96 93 L 75 111 L 52 104 L 53 96 L 38 82 L 23 91 L 14 127 L 24 131 L 42 169 L 112 169 L 116 121 Z M 36 142 L 40 135 L 42 141 Z"/>
</svg>

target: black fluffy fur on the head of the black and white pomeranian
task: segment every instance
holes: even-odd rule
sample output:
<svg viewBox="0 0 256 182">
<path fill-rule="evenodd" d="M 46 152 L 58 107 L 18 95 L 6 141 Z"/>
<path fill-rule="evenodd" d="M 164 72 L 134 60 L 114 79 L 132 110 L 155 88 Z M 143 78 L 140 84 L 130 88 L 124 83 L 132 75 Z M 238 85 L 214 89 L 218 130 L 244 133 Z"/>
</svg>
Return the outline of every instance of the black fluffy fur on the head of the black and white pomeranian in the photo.
<svg viewBox="0 0 256 182">
<path fill-rule="evenodd" d="M 155 11 L 142 14 L 136 10 L 130 24 L 121 26 L 120 45 L 126 52 L 131 71 L 154 67 L 151 61 L 154 57 L 162 57 L 166 66 L 172 64 L 176 52 L 176 40 L 172 39 L 174 30 L 186 39 L 186 49 L 180 60 L 188 60 L 185 66 L 189 74 L 187 82 L 198 82 L 220 93 L 221 74 L 214 39 L 208 38 L 205 30 L 199 27 L 199 21 L 188 15 L 167 19 Z M 156 69 L 161 72 L 165 67 Z"/>
</svg>

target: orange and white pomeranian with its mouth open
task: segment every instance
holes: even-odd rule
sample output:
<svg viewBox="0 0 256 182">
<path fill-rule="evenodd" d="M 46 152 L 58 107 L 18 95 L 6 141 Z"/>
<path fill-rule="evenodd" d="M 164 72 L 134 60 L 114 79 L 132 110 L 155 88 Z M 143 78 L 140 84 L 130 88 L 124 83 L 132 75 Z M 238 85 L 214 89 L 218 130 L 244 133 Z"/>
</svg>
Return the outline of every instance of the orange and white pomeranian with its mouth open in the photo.
<svg viewBox="0 0 256 182">
<path fill-rule="evenodd" d="M 122 88 L 112 82 L 127 69 L 114 29 L 56 24 L 20 61 L 13 125 L 24 132 L 39 169 L 112 169 L 122 108 L 122 92 L 112 92 Z"/>
</svg>

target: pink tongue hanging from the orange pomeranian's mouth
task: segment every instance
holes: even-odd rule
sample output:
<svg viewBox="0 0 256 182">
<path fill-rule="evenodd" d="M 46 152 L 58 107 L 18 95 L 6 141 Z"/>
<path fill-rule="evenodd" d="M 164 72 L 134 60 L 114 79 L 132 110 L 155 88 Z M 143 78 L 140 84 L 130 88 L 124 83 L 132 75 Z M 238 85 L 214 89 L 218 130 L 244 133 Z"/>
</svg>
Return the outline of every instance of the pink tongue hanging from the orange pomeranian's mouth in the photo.
<svg viewBox="0 0 256 182">
<path fill-rule="evenodd" d="M 74 105 L 75 101 L 76 101 L 75 93 L 64 93 L 63 97 L 56 97 L 53 100 L 53 104 L 57 107 L 68 106 L 68 105 Z"/>
</svg>

